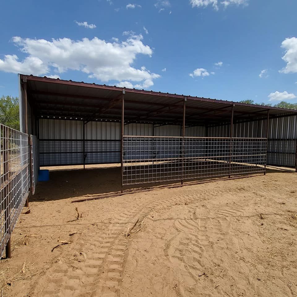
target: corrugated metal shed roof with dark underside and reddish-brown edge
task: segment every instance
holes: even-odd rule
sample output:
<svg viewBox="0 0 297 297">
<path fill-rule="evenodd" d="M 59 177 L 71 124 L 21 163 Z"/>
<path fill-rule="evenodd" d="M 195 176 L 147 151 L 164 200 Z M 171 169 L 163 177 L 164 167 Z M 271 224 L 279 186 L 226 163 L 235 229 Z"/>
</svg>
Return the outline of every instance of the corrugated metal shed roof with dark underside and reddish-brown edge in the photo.
<svg viewBox="0 0 297 297">
<path fill-rule="evenodd" d="M 20 77 L 27 77 L 27 97 L 38 117 L 104 121 L 121 119 L 119 96 L 123 93 L 123 88 L 33 75 Z M 271 106 L 124 89 L 124 116 L 128 123 L 181 124 L 185 99 L 187 125 L 211 126 L 229 122 L 233 105 L 235 122 L 265 118 L 267 110 L 271 118 L 297 114 L 297 110 Z"/>
</svg>

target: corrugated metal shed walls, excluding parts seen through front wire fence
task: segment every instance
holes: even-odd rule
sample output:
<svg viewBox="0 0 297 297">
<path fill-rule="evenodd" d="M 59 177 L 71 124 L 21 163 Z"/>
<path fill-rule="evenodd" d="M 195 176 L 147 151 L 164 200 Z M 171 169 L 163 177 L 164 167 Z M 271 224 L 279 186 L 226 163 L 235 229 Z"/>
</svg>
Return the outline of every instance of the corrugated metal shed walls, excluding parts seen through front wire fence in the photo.
<svg viewBox="0 0 297 297">
<path fill-rule="evenodd" d="M 41 165 L 83 164 L 83 126 L 83 121 L 39 119 Z M 268 164 L 295 166 L 296 126 L 297 116 L 270 120 Z M 124 134 L 131 136 L 181 136 L 181 127 L 176 125 L 153 128 L 152 124 L 134 123 L 125 125 L 124 129 Z M 208 136 L 229 137 L 229 131 L 230 125 L 209 127 Z M 234 137 L 265 137 L 265 135 L 266 120 L 237 123 L 233 127 Z M 205 136 L 205 127 L 188 127 L 185 136 Z M 85 125 L 85 163 L 120 162 L 120 138 L 120 123 L 88 122 Z M 273 140 L 286 138 L 293 140 L 286 140 L 282 145 Z"/>
</svg>

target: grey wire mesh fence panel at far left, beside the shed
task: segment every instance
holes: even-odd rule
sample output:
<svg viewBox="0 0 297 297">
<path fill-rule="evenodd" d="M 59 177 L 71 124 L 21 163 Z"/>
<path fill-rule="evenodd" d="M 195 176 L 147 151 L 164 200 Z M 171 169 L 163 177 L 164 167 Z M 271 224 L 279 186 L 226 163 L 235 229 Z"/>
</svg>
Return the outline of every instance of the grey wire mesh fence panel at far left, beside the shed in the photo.
<svg viewBox="0 0 297 297">
<path fill-rule="evenodd" d="M 1 256 L 29 193 L 28 135 L 0 124 Z"/>
</svg>

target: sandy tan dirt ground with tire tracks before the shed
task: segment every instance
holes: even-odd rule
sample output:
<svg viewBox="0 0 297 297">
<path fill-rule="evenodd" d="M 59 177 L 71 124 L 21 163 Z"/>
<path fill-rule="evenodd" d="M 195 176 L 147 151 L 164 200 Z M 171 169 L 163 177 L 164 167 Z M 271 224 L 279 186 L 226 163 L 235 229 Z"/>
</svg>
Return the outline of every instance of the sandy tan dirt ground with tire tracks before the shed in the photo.
<svg viewBox="0 0 297 297">
<path fill-rule="evenodd" d="M 120 170 L 56 169 L 19 217 L 2 296 L 297 296 L 295 172 L 71 204 L 119 190 Z"/>
</svg>

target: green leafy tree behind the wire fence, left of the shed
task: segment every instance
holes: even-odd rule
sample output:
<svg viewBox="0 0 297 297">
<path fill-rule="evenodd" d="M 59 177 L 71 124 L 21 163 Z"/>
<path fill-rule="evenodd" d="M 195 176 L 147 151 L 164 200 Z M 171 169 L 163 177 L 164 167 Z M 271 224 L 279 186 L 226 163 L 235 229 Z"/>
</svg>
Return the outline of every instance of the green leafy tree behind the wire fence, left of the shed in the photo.
<svg viewBox="0 0 297 297">
<path fill-rule="evenodd" d="M 19 130 L 19 98 L 2 96 L 0 98 L 0 123 Z"/>
</svg>

